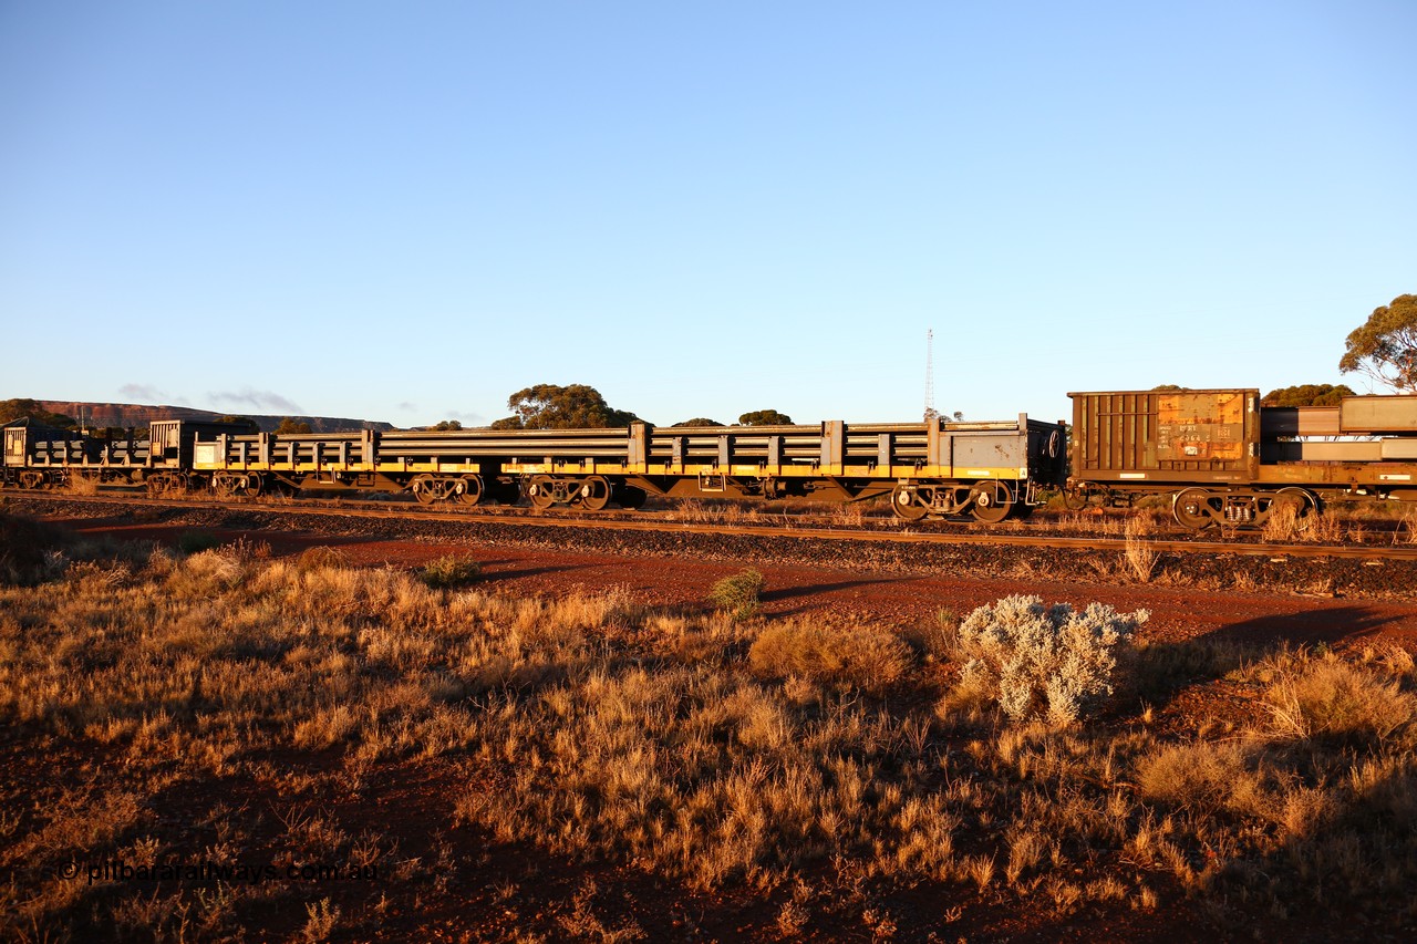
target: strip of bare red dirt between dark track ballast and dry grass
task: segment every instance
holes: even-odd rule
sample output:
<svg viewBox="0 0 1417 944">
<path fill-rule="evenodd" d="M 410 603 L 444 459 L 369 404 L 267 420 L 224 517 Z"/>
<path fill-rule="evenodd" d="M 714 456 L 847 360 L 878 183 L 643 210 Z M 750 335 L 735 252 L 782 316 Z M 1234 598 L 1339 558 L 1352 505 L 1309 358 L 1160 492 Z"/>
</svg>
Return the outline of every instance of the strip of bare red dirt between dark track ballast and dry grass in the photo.
<svg viewBox="0 0 1417 944">
<path fill-rule="evenodd" d="M 174 543 L 190 526 L 133 524 L 112 519 L 51 519 L 85 536 Z M 247 539 L 271 544 L 275 556 L 307 547 L 340 549 L 356 566 L 419 567 L 449 554 L 482 564 L 487 584 L 513 595 L 567 594 L 622 587 L 648 605 L 694 609 L 714 581 L 740 570 L 720 560 L 636 557 L 582 550 L 548 551 L 487 543 L 370 540 L 293 532 L 207 529 L 222 541 Z M 1060 583 L 910 575 L 833 567 L 755 564 L 767 578 L 762 612 L 772 617 L 832 612 L 879 624 L 911 625 L 942 609 L 964 615 L 1010 594 L 1034 594 L 1046 602 L 1105 602 L 1121 612 L 1151 611 L 1145 635 L 1179 641 L 1212 634 L 1250 642 L 1289 641 L 1342 648 L 1383 639 L 1417 652 L 1417 601 L 1343 600 L 1298 594 L 1204 591 L 1196 587 Z"/>
</svg>

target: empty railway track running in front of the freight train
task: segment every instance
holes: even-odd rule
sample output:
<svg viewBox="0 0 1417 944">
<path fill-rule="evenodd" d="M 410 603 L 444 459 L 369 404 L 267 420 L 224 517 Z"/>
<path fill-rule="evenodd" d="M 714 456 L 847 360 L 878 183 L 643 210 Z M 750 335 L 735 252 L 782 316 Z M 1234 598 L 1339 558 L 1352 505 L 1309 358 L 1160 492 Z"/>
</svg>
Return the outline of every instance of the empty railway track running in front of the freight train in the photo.
<svg viewBox="0 0 1417 944">
<path fill-rule="evenodd" d="M 684 522 L 672 513 L 635 512 L 631 516 L 578 516 L 574 513 L 546 513 L 531 512 L 520 507 L 485 507 L 476 512 L 462 509 L 428 509 L 390 502 L 360 502 L 350 503 L 341 500 L 339 505 L 305 499 L 299 502 L 281 503 L 264 500 L 208 500 L 208 499 L 179 499 L 179 498 L 136 498 L 108 495 L 62 495 L 62 493 L 11 493 L 14 499 L 33 499 L 41 502 L 61 502 L 71 505 L 132 505 L 137 507 L 167 507 L 184 510 L 221 510 L 237 515 L 265 513 L 289 516 L 329 516 L 329 517 L 367 517 L 367 519 L 401 519 L 410 522 L 468 522 L 470 524 L 507 524 L 517 527 L 537 529 L 592 529 L 614 532 L 639 532 L 657 534 L 717 534 L 733 537 L 774 537 L 801 539 L 818 541 L 877 541 L 886 544 L 986 544 L 998 547 L 1020 549 L 1060 549 L 1060 550 L 1115 550 L 1122 553 L 1127 540 L 1111 536 L 1058 536 L 1049 533 L 1000 533 L 993 530 L 908 530 L 894 526 L 890 530 L 876 530 L 853 526 L 819 526 L 788 520 L 784 524 L 744 524 L 730 522 Z M 1036 526 L 1023 526 L 1036 527 Z M 1204 540 L 1170 540 L 1168 537 L 1135 539 L 1148 549 L 1158 553 L 1170 554 L 1237 554 L 1271 558 L 1348 558 L 1363 561 L 1417 561 L 1417 544 L 1271 544 L 1250 541 L 1204 541 Z"/>
</svg>

